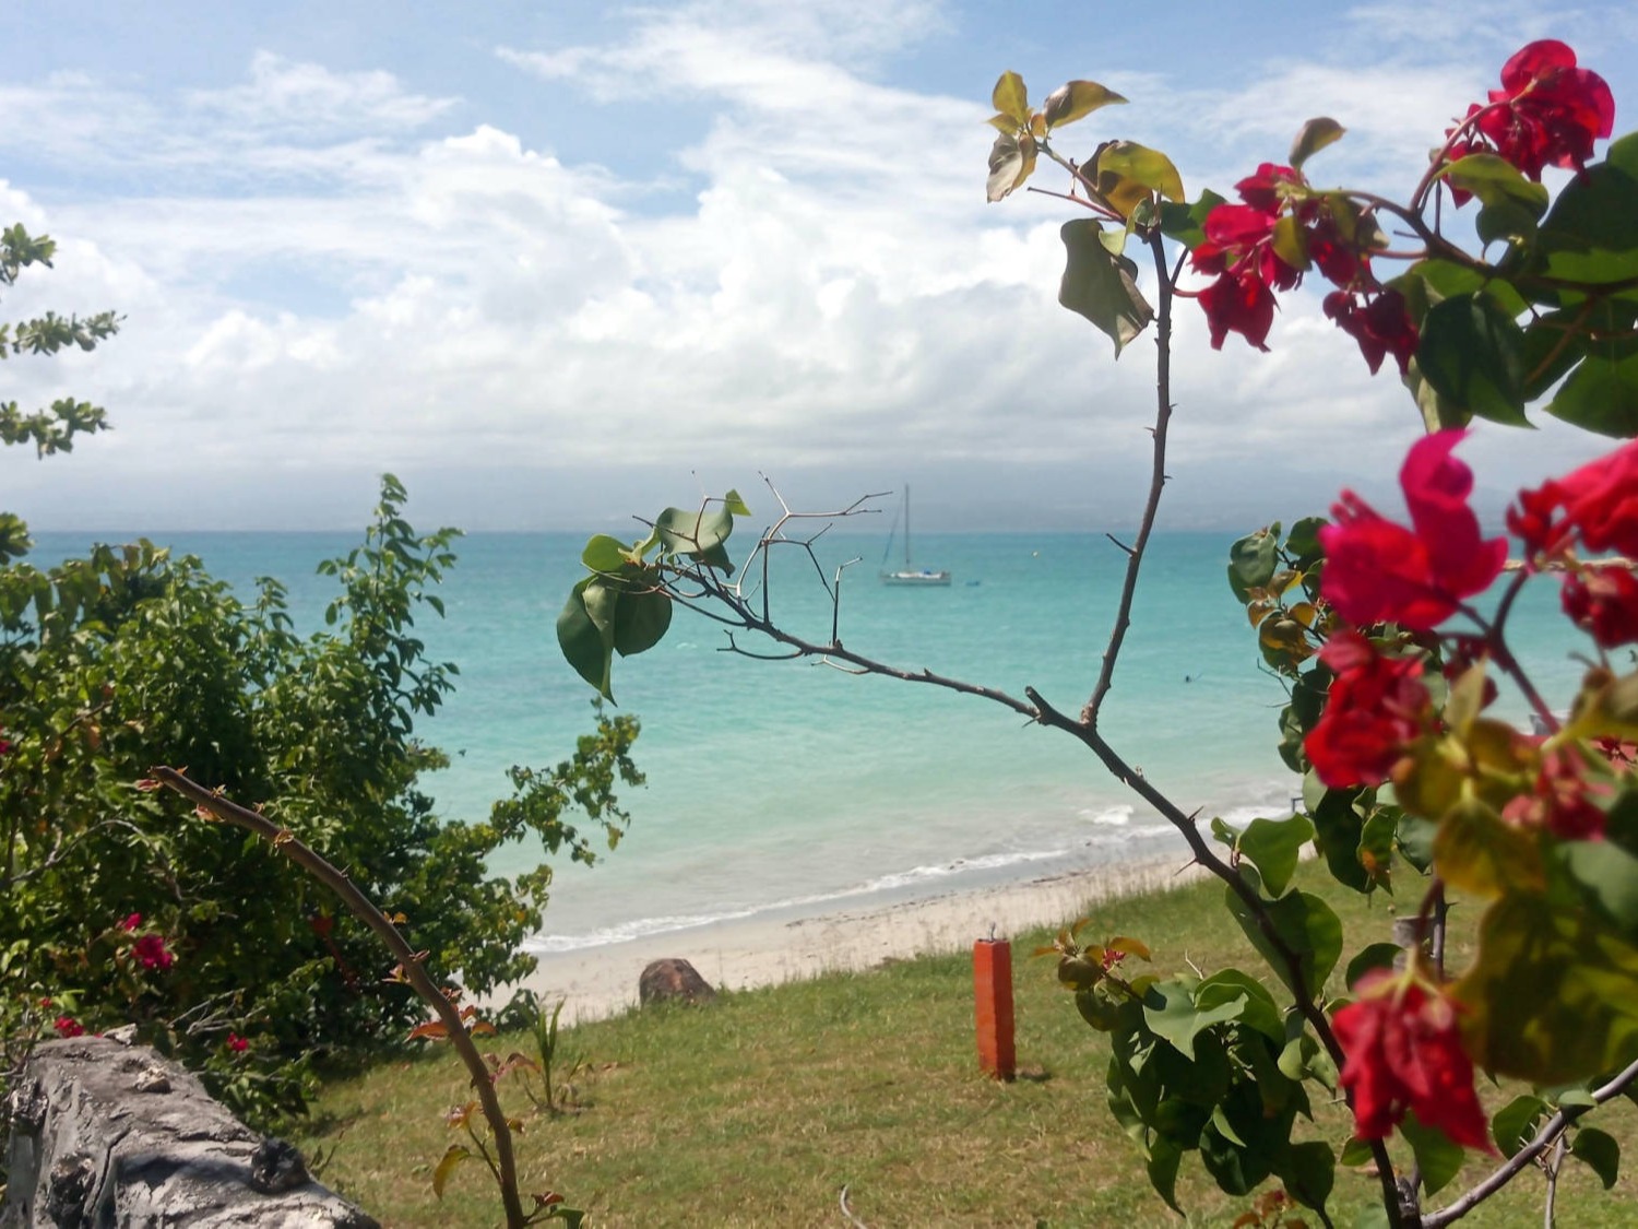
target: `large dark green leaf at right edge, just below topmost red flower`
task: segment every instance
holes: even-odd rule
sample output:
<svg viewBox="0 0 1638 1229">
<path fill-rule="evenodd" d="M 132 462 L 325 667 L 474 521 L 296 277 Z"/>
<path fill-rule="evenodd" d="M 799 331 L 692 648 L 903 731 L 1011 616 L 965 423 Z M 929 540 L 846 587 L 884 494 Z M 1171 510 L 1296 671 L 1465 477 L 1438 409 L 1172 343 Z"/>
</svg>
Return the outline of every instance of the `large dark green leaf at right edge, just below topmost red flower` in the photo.
<svg viewBox="0 0 1638 1229">
<path fill-rule="evenodd" d="M 1564 185 L 1538 233 L 1546 274 L 1607 285 L 1638 277 L 1638 133 Z"/>
</svg>

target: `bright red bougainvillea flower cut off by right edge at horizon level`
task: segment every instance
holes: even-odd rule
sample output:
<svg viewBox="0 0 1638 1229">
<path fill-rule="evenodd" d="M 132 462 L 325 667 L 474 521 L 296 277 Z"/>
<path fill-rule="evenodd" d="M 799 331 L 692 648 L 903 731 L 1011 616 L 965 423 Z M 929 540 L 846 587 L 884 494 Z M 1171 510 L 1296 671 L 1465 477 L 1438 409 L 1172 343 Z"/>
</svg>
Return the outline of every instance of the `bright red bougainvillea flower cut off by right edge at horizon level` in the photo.
<svg viewBox="0 0 1638 1229">
<path fill-rule="evenodd" d="M 1507 510 L 1507 528 L 1532 556 L 1556 556 L 1577 537 L 1594 554 L 1638 556 L 1638 439 L 1538 490 L 1520 492 L 1517 506 Z"/>
</svg>

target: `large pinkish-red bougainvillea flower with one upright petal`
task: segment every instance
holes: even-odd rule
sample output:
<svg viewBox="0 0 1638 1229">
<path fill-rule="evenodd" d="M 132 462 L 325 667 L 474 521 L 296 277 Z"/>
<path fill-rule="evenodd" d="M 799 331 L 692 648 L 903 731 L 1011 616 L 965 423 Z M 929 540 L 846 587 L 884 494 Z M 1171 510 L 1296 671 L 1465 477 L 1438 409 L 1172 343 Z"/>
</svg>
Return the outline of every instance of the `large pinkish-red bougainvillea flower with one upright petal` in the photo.
<svg viewBox="0 0 1638 1229">
<path fill-rule="evenodd" d="M 1432 631 L 1458 603 L 1489 588 L 1507 562 L 1507 539 L 1479 537 L 1468 506 L 1473 470 L 1451 457 L 1464 431 L 1438 431 L 1410 446 L 1399 485 L 1410 528 L 1384 519 L 1353 492 L 1320 528 L 1325 574 L 1320 592 L 1350 623 Z"/>
</svg>

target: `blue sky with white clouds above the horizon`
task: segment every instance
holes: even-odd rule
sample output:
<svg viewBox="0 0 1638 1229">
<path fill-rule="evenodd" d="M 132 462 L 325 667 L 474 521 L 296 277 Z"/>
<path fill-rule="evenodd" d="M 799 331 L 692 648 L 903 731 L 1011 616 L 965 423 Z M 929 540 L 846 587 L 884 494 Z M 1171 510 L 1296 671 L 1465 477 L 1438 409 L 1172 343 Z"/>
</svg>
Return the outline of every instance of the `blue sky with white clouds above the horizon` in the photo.
<svg viewBox="0 0 1638 1229">
<path fill-rule="evenodd" d="M 0 451 L 0 508 L 36 529 L 357 528 L 382 472 L 418 524 L 467 529 L 904 482 L 929 529 L 1125 526 L 1153 349 L 1115 362 L 1058 306 L 1076 206 L 984 202 L 1002 70 L 1037 102 L 1125 95 L 1060 149 L 1163 149 L 1191 198 L 1314 115 L 1348 129 L 1317 184 L 1404 198 L 1535 38 L 1609 79 L 1617 134 L 1638 105 L 1628 0 L 84 0 L 7 26 L 0 224 L 59 252 L 0 320 L 124 316 L 93 354 L 0 365 L 0 398 L 115 424 Z M 1268 354 L 1212 351 L 1179 305 L 1161 528 L 1250 529 L 1342 485 L 1397 506 L 1419 418 L 1319 293 L 1287 297 Z M 1538 421 L 1463 446 L 1486 506 L 1607 447 Z"/>
</svg>

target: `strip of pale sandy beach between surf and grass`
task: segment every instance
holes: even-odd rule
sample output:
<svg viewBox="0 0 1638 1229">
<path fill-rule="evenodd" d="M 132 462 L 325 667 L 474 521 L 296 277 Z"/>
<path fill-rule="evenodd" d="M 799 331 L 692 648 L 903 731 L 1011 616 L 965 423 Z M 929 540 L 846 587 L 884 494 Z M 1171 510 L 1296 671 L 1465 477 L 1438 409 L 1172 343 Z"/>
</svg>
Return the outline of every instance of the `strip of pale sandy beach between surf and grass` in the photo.
<svg viewBox="0 0 1638 1229">
<path fill-rule="evenodd" d="M 563 1021 L 600 1019 L 637 1003 L 637 977 L 650 960 L 683 957 L 713 986 L 744 990 L 827 970 L 868 968 L 894 957 L 966 949 L 975 939 L 1011 939 L 1037 926 L 1075 921 L 1096 901 L 1133 896 L 1196 877 L 1181 859 L 1115 864 L 875 909 L 770 913 L 627 942 L 541 955 L 523 988 L 563 1000 Z M 1025 954 L 1014 954 L 1014 962 Z M 505 1001 L 511 990 L 496 995 Z"/>
</svg>

